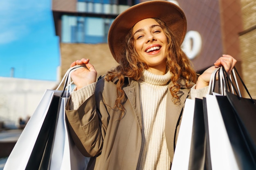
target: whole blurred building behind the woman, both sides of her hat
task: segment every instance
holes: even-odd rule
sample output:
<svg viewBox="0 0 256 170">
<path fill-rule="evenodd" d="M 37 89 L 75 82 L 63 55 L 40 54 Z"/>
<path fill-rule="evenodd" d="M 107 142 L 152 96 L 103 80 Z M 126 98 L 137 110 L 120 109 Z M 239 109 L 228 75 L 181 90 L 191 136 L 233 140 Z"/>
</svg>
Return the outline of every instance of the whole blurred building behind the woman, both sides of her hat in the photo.
<svg viewBox="0 0 256 170">
<path fill-rule="evenodd" d="M 117 65 L 107 44 L 113 19 L 145 0 L 52 0 L 56 35 L 60 37 L 61 76 L 77 59 L 89 58 L 98 75 Z M 249 92 L 256 98 L 256 2 L 254 0 L 170 0 L 186 14 L 188 30 L 182 48 L 199 73 L 222 54 L 238 60 Z M 243 88 L 242 88 L 243 89 Z M 245 91 L 242 91 L 245 94 Z"/>
</svg>

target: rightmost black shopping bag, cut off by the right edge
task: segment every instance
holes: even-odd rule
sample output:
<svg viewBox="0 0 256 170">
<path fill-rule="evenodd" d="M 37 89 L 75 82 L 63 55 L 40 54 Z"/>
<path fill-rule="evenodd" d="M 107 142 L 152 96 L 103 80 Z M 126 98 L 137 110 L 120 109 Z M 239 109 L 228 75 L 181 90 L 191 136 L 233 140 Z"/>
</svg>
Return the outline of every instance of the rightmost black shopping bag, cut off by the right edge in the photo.
<svg viewBox="0 0 256 170">
<path fill-rule="evenodd" d="M 245 83 L 243 82 L 242 78 L 240 77 L 238 71 L 236 68 L 233 69 L 234 72 L 232 72 L 232 76 L 236 77 L 237 76 L 240 79 L 240 82 L 243 84 L 243 87 L 245 88 L 247 94 L 249 95 L 250 98 L 243 98 L 240 89 L 237 87 L 237 83 L 233 83 L 231 79 L 227 76 L 227 72 L 223 70 L 223 74 L 227 76 L 227 81 L 230 83 L 230 86 L 234 88 L 234 92 L 226 92 L 227 99 L 225 100 L 222 99 L 221 102 L 219 102 L 219 105 L 221 106 L 221 103 L 226 102 L 227 105 L 228 103 L 230 104 L 230 111 L 229 114 L 232 113 L 233 117 L 235 117 L 234 121 L 230 121 L 232 119 L 226 118 L 227 121 L 230 124 L 234 124 L 233 129 L 236 128 L 236 132 L 239 134 L 237 139 L 234 139 L 234 149 L 236 149 L 236 153 L 239 154 L 238 161 L 243 160 L 243 165 L 246 165 L 246 169 L 256 169 L 256 132 L 255 132 L 255 120 L 256 120 L 256 106 L 255 102 L 256 100 L 252 98 L 250 95 L 247 87 L 245 86 Z M 235 79 L 235 78 L 234 78 Z M 221 99 L 219 99 L 221 100 Z M 222 104 L 223 105 L 223 104 Z M 224 110 L 225 108 L 223 108 Z M 226 111 L 227 112 L 227 111 Z M 226 115 L 223 115 L 223 118 Z M 227 126 L 226 126 L 227 128 Z M 232 132 L 232 131 L 231 131 Z M 234 132 L 231 133 L 231 138 L 234 138 Z M 239 141 L 239 142 L 238 142 Z M 238 145 L 240 144 L 240 145 Z M 243 155 L 243 157 L 241 156 Z M 243 168 L 243 169 L 245 169 Z"/>
</svg>

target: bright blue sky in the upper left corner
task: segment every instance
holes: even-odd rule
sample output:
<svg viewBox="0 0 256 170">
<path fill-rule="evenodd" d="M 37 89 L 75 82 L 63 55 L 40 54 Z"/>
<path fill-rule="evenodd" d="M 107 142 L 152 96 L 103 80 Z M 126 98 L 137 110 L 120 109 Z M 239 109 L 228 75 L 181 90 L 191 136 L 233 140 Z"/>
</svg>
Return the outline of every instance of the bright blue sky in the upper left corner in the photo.
<svg viewBox="0 0 256 170">
<path fill-rule="evenodd" d="M 57 80 L 60 65 L 51 0 L 0 1 L 0 76 Z"/>
</svg>

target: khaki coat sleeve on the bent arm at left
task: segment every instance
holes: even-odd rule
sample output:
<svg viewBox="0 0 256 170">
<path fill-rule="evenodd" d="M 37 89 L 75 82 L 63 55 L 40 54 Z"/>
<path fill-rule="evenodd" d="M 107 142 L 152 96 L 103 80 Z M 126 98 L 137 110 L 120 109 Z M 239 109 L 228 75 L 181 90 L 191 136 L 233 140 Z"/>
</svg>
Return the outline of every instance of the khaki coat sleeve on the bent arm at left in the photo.
<svg viewBox="0 0 256 170">
<path fill-rule="evenodd" d="M 96 85 L 95 93 L 102 95 L 99 88 L 97 90 L 97 86 L 99 87 L 99 85 Z M 104 109 L 106 108 L 104 102 L 96 100 L 96 98 L 103 97 L 95 97 L 95 93 L 86 99 L 78 109 L 68 110 L 68 106 L 66 107 L 70 134 L 76 146 L 86 157 L 94 157 L 101 153 L 109 120 L 108 111 Z M 101 110 L 98 109 L 99 107 Z"/>
</svg>

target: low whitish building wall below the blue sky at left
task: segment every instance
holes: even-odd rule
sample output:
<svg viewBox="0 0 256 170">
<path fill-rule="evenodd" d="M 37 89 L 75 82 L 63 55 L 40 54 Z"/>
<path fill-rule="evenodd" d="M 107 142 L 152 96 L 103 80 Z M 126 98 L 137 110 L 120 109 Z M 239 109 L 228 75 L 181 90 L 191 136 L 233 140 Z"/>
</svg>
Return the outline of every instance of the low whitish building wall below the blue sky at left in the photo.
<svg viewBox="0 0 256 170">
<path fill-rule="evenodd" d="M 56 81 L 0 77 L 0 124 L 4 123 L 7 129 L 18 128 L 20 118 L 26 122 L 32 116 L 45 89 L 57 85 Z"/>
</svg>

